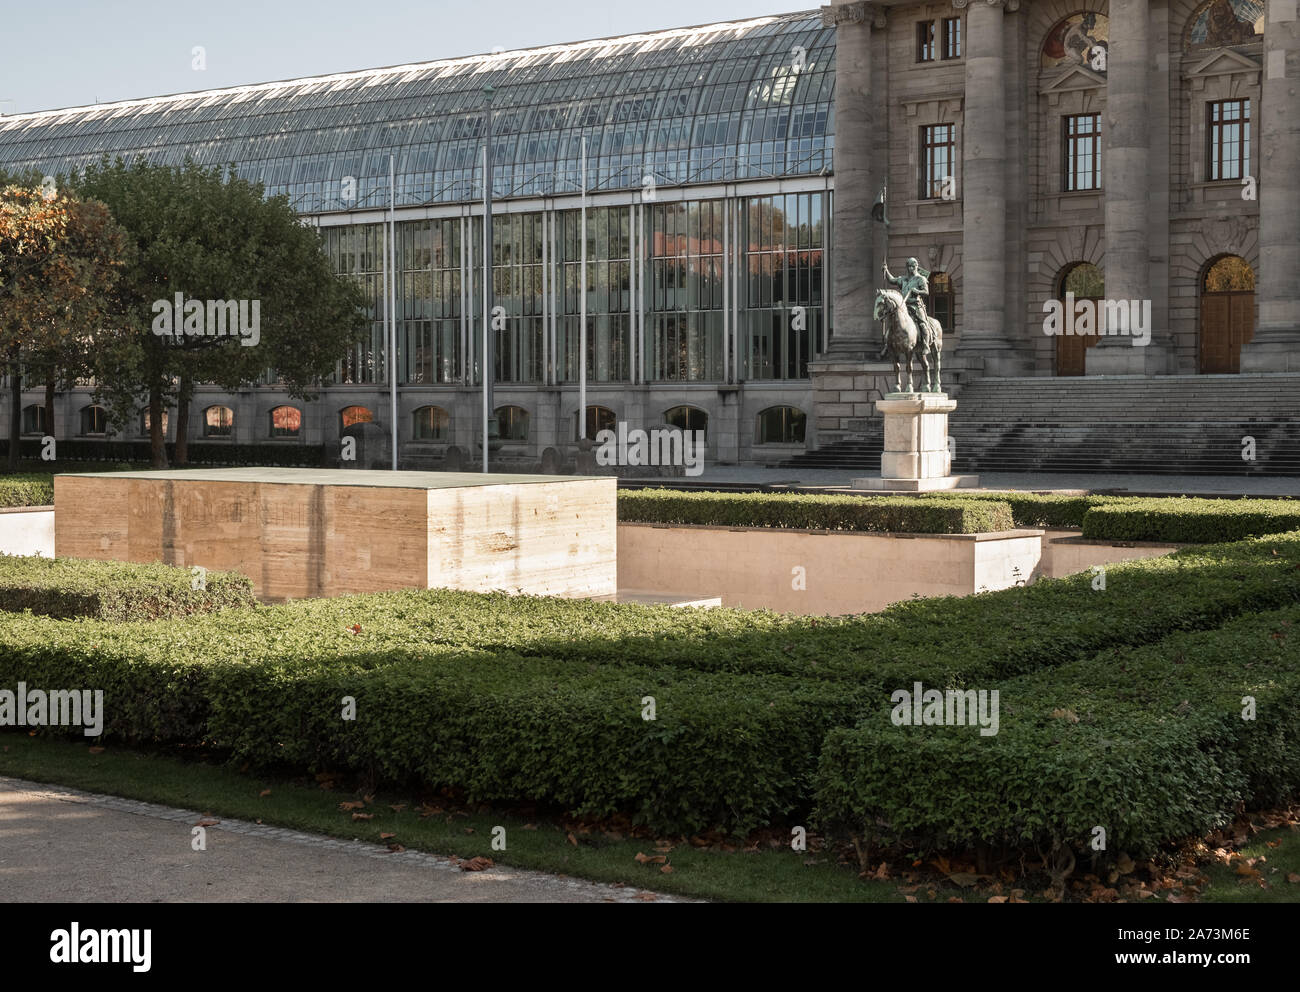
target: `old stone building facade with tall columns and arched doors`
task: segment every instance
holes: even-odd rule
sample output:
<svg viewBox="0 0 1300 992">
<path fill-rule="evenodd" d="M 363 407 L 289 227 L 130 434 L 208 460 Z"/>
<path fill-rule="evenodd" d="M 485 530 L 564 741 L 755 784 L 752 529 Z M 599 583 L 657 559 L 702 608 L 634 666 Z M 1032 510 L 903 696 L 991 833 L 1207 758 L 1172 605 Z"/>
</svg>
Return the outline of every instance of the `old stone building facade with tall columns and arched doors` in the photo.
<svg viewBox="0 0 1300 992">
<path fill-rule="evenodd" d="M 820 438 L 861 426 L 889 389 L 870 360 L 885 259 L 942 274 L 945 351 L 967 381 L 1300 371 L 1294 0 L 883 0 L 823 16 L 837 34 L 836 319 L 812 372 Z M 926 189 L 936 168 L 946 189 Z M 871 220 L 881 187 L 888 226 Z M 1148 345 L 1045 333 L 1075 269 L 1104 283 L 1089 298 L 1149 300 Z"/>
</svg>

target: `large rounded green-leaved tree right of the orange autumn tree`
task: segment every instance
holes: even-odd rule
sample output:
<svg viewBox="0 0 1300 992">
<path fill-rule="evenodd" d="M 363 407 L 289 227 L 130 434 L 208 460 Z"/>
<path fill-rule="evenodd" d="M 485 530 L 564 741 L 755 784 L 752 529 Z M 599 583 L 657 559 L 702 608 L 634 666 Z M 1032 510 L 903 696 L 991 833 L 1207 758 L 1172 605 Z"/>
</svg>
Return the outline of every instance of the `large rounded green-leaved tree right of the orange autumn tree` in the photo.
<svg viewBox="0 0 1300 992">
<path fill-rule="evenodd" d="M 121 333 L 96 348 L 92 367 L 116 424 L 148 398 L 156 468 L 166 467 L 162 413 L 173 400 L 182 406 L 185 458 L 181 429 L 195 384 L 235 390 L 272 371 L 290 395 L 311 400 L 360 341 L 359 287 L 334 274 L 287 198 L 265 199 L 261 183 L 233 166 L 105 159 L 73 183 L 107 203 L 135 242 L 117 287 Z"/>
</svg>

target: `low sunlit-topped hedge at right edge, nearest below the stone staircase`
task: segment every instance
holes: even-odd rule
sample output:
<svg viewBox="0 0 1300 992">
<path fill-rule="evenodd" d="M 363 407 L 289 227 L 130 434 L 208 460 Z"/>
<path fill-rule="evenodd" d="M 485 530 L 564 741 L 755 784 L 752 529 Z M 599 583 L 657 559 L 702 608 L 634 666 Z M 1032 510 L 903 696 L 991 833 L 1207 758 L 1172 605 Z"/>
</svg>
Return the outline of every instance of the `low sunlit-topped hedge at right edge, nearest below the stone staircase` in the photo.
<svg viewBox="0 0 1300 992">
<path fill-rule="evenodd" d="M 1084 514 L 1083 536 L 1100 541 L 1217 543 L 1300 528 L 1294 499 L 1124 499 Z"/>
</svg>

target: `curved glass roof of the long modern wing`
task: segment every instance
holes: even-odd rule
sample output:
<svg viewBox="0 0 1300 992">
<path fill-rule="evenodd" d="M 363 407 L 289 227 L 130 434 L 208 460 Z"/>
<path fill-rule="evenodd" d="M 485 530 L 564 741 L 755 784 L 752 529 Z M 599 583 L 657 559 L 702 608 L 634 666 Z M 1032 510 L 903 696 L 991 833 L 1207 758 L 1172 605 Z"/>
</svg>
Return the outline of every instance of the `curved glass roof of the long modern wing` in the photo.
<svg viewBox="0 0 1300 992">
<path fill-rule="evenodd" d="M 234 163 L 304 213 L 815 176 L 831 166 L 835 29 L 816 10 L 0 117 L 0 169 L 103 155 Z M 354 189 L 355 187 L 355 189 Z"/>
</svg>

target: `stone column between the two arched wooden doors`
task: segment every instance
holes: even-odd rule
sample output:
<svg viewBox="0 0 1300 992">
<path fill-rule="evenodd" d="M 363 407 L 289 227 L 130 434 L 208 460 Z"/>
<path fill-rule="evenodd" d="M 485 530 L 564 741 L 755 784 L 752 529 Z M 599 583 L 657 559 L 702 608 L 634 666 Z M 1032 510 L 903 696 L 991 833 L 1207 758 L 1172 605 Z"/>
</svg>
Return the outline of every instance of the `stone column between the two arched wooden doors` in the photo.
<svg viewBox="0 0 1300 992">
<path fill-rule="evenodd" d="M 1150 121 L 1147 94 L 1150 12 L 1148 0 L 1113 0 L 1106 59 L 1106 114 L 1101 147 L 1101 182 L 1106 203 L 1105 278 L 1108 300 L 1150 300 Z M 1139 303 L 1139 313 L 1143 304 Z M 1098 308 L 1098 325 L 1105 307 Z M 1088 350 L 1089 376 L 1141 374 L 1148 354 L 1160 346 L 1135 346 L 1132 334 L 1101 328 L 1101 339 Z M 1166 329 L 1167 330 L 1167 329 Z"/>
</svg>

